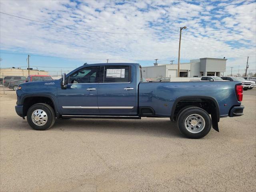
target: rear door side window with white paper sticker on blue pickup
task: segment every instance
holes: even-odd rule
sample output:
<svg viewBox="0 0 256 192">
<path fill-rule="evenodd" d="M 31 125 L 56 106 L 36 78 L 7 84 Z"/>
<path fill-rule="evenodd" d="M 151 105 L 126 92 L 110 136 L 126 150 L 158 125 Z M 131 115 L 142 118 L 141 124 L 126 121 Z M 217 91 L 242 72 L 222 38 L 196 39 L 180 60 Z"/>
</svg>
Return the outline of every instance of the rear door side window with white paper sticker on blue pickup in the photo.
<svg viewBox="0 0 256 192">
<path fill-rule="evenodd" d="M 129 66 L 105 66 L 104 83 L 130 82 Z"/>
</svg>

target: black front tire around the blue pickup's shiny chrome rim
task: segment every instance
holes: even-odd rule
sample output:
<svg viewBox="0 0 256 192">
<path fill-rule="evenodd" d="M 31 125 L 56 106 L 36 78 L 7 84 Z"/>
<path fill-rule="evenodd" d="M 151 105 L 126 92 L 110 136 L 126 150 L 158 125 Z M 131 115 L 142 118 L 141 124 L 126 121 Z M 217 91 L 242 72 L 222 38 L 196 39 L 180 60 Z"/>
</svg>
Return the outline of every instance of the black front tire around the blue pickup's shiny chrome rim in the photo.
<svg viewBox="0 0 256 192">
<path fill-rule="evenodd" d="M 33 122 L 32 113 L 35 110 L 43 110 L 46 113 L 47 121 L 44 125 L 39 126 Z M 51 128 L 55 123 L 55 112 L 54 112 L 53 108 L 48 104 L 45 104 L 45 103 L 34 104 L 28 109 L 27 121 L 28 121 L 28 124 L 30 125 L 30 127 L 32 127 L 35 130 L 40 130 L 40 131 L 47 130 L 47 129 Z"/>
</svg>

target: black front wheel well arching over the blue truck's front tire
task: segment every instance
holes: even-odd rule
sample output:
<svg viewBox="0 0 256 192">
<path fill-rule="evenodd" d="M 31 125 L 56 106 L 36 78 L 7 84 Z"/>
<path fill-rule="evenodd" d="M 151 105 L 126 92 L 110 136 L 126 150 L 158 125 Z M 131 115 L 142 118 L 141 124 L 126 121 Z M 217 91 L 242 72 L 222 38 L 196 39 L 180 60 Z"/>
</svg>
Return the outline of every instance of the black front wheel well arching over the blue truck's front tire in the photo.
<svg viewBox="0 0 256 192">
<path fill-rule="evenodd" d="M 48 104 L 50 105 L 53 110 L 55 111 L 55 107 L 54 107 L 54 103 L 52 102 L 52 100 L 48 97 L 28 97 L 28 98 L 25 98 L 24 100 L 24 105 L 23 105 L 23 114 L 24 116 L 27 115 L 27 112 L 28 112 L 28 109 L 34 105 L 34 104 L 37 104 L 37 103 L 45 103 L 45 104 Z"/>
</svg>

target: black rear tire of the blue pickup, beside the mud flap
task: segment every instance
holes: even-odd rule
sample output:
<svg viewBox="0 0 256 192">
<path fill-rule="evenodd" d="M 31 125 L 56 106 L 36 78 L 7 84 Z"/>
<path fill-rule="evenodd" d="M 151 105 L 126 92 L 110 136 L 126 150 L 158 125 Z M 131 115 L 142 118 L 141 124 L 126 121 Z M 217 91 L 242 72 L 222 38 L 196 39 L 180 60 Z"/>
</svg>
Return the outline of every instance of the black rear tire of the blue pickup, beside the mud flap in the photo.
<svg viewBox="0 0 256 192">
<path fill-rule="evenodd" d="M 198 119 L 200 119 L 200 121 L 202 123 L 201 126 L 204 124 L 204 126 L 202 126 L 202 130 L 200 132 L 196 132 L 197 128 L 193 128 L 194 130 L 191 130 L 192 128 L 190 129 L 188 124 L 187 124 L 188 128 L 186 128 L 186 126 L 185 126 L 186 119 L 189 117 L 194 118 L 192 116 L 193 114 L 199 115 Z M 200 124 L 198 124 L 198 125 L 200 126 Z M 189 108 L 184 109 L 182 112 L 180 112 L 180 114 L 177 118 L 177 126 L 178 126 L 180 132 L 182 134 L 184 134 L 187 138 L 199 139 L 199 138 L 206 136 L 210 132 L 210 130 L 212 128 L 212 120 L 211 120 L 209 114 L 205 110 L 203 110 L 199 107 L 189 107 Z M 198 127 L 198 128 L 200 128 L 200 127 Z"/>
</svg>

